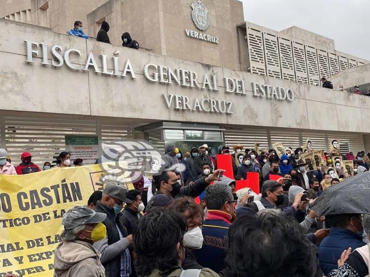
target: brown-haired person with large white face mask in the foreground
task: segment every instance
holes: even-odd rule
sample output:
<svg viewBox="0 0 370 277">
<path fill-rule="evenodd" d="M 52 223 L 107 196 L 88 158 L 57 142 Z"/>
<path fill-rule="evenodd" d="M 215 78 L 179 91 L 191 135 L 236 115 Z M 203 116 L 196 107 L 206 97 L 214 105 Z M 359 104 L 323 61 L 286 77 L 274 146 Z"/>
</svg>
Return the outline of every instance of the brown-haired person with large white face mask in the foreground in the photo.
<svg viewBox="0 0 370 277">
<path fill-rule="evenodd" d="M 176 201 L 167 207 L 169 210 L 180 212 L 187 220 L 188 229 L 184 235 L 186 243 L 186 256 L 182 263 L 183 269 L 202 269 L 193 253 L 194 249 L 200 249 L 203 245 L 202 224 L 204 211 L 202 206 L 198 205 L 194 198 L 183 196 L 178 197 Z"/>
</svg>

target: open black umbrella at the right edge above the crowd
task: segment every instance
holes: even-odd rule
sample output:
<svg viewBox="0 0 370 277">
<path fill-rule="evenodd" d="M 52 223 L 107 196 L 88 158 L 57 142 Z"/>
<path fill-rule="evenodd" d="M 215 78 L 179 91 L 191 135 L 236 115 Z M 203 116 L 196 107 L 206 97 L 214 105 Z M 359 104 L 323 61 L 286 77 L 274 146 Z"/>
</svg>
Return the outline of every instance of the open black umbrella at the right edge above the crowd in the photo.
<svg viewBox="0 0 370 277">
<path fill-rule="evenodd" d="M 327 188 L 311 205 L 318 216 L 370 213 L 370 172 Z"/>
</svg>

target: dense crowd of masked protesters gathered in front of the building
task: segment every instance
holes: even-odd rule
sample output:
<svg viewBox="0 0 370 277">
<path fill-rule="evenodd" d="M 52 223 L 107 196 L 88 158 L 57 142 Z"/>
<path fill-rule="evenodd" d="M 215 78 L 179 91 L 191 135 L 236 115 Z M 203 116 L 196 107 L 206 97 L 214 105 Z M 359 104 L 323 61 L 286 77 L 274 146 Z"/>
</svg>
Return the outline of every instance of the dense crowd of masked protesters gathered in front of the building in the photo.
<svg viewBox="0 0 370 277">
<path fill-rule="evenodd" d="M 218 153 L 231 156 L 230 178 L 210 150 L 204 144 L 182 155 L 169 144 L 167 168 L 158 174 L 143 174 L 129 191 L 107 181 L 86 206 L 67 211 L 55 250 L 55 276 L 368 274 L 370 215 L 318 216 L 311 206 L 329 187 L 352 175 L 366 176 L 370 153 L 338 157 L 325 152 L 322 168 L 307 171 L 300 156 L 309 149 L 288 147 L 279 156 L 275 149 L 223 146 Z M 0 149 L 0 174 L 40 171 L 31 157 L 22 153 L 14 168 Z M 70 158 L 60 153 L 57 167 L 69 167 Z M 351 175 L 338 158 L 353 161 Z M 186 164 L 186 170 L 170 170 L 176 163 Z M 236 191 L 236 181 L 248 179 L 250 172 L 260 176 L 260 194 L 251 188 Z"/>
</svg>

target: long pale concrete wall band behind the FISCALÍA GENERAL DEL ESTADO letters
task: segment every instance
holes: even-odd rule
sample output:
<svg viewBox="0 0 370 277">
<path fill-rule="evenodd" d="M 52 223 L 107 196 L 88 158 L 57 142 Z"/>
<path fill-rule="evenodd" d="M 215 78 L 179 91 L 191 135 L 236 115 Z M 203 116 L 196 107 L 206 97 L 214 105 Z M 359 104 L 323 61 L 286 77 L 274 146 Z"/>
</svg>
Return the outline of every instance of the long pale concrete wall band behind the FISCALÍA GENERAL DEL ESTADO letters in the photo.
<svg viewBox="0 0 370 277">
<path fill-rule="evenodd" d="M 9 33 L 13 35 L 9 36 Z M 81 57 L 74 55 L 71 58 L 76 65 L 84 64 L 87 53 L 91 51 L 100 68 L 101 53 L 112 57 L 119 50 L 117 57 L 121 63 L 130 59 L 137 79 L 97 74 L 91 68 L 88 72 L 76 72 L 65 65 L 58 68 L 43 66 L 41 58 L 37 57 L 34 58 L 34 64 L 28 64 L 25 62 L 25 39 L 60 45 L 62 53 L 67 48 L 81 49 Z M 3 99 L 0 101 L 0 109 L 80 115 L 86 118 L 97 116 L 370 134 L 370 97 L 69 37 L 47 28 L 8 20 L 0 20 L 0 41 L 0 99 Z M 199 78 L 205 73 L 216 75 L 220 90 L 151 83 L 143 76 L 143 67 L 148 63 L 191 70 Z M 111 60 L 108 67 L 113 68 Z M 245 80 L 247 95 L 226 93 L 223 77 Z M 288 102 L 253 97 L 251 82 L 291 88 L 296 98 Z M 176 110 L 173 106 L 168 108 L 162 94 L 188 96 L 190 102 L 196 97 L 232 101 L 235 113 L 226 115 Z"/>
</svg>

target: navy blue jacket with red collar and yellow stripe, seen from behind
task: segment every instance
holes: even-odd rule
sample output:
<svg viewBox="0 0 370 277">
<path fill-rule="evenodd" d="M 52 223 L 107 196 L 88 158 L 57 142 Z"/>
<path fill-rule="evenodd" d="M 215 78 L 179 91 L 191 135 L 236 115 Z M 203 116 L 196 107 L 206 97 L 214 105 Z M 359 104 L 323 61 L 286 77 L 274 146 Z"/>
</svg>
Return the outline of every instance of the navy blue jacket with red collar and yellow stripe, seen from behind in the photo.
<svg viewBox="0 0 370 277">
<path fill-rule="evenodd" d="M 203 267 L 220 272 L 225 267 L 227 232 L 230 227 L 231 215 L 219 210 L 208 210 L 207 219 L 203 223 L 203 246 L 193 250 L 197 262 Z"/>
</svg>

